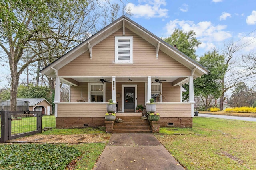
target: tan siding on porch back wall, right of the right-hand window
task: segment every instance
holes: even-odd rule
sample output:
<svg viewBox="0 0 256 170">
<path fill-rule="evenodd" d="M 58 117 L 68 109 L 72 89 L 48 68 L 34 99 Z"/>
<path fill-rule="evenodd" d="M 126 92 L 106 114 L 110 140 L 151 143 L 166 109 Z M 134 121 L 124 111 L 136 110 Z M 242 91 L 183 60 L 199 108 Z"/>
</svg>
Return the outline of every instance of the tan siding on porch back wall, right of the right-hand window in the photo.
<svg viewBox="0 0 256 170">
<path fill-rule="evenodd" d="M 166 102 L 180 102 L 180 86 L 173 87 L 170 82 L 163 82 L 163 96 Z"/>
</svg>

